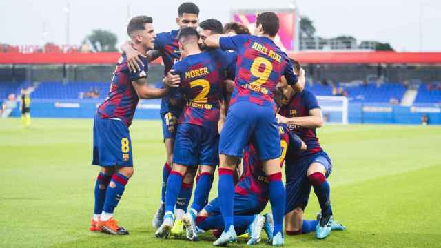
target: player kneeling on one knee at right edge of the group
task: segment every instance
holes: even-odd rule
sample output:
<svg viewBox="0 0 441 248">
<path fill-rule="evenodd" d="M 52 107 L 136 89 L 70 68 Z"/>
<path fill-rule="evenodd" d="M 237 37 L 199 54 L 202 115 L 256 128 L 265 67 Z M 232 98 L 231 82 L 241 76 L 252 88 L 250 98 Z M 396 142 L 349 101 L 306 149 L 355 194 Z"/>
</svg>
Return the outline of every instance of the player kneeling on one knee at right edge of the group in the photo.
<svg viewBox="0 0 441 248">
<path fill-rule="evenodd" d="M 297 61 L 292 62 L 296 65 L 297 73 L 304 73 Z M 345 227 L 336 223 L 332 216 L 329 183 L 326 180 L 331 174 L 331 159 L 320 147 L 316 136 L 316 128 L 323 125 L 322 110 L 316 96 L 309 90 L 298 93 L 287 84 L 280 85 L 278 91 L 282 92 L 285 104 L 280 107 L 278 122 L 287 124 L 291 132 L 307 144 L 306 151 L 288 149 L 287 152 L 285 231 L 287 235 L 316 231 L 317 238 L 326 238 L 331 229 L 344 230 Z M 302 220 L 311 186 L 321 212 L 318 220 Z"/>
</svg>

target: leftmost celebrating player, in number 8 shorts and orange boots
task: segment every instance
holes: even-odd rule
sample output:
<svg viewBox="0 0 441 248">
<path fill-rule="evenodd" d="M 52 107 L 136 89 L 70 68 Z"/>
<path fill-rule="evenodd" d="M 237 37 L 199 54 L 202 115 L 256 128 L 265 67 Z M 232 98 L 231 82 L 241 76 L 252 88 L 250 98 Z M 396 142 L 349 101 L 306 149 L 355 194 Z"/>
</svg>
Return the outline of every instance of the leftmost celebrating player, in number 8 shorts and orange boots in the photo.
<svg viewBox="0 0 441 248">
<path fill-rule="evenodd" d="M 127 34 L 133 47 L 145 54 L 153 48 L 156 37 L 152 17 L 139 16 L 130 20 Z M 147 86 L 148 66 L 144 59 L 139 72 L 130 72 L 127 59 L 122 54 L 116 64 L 110 92 L 99 106 L 94 118 L 93 165 L 101 166 L 96 178 L 94 216 L 90 231 L 107 234 L 128 234 L 113 218 L 116 205 L 123 195 L 125 185 L 133 174 L 132 143 L 128 127 L 139 99 L 158 99 L 168 88 Z"/>
</svg>

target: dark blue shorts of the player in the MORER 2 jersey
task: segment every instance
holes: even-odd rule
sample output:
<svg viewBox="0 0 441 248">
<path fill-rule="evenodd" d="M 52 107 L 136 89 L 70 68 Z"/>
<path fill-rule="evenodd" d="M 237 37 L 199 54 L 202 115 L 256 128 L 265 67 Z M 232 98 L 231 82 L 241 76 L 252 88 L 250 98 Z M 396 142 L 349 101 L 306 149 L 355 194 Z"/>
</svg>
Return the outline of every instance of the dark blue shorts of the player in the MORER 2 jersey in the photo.
<svg viewBox="0 0 441 248">
<path fill-rule="evenodd" d="M 186 166 L 219 165 L 217 129 L 189 123 L 178 125 L 173 163 Z"/>
</svg>

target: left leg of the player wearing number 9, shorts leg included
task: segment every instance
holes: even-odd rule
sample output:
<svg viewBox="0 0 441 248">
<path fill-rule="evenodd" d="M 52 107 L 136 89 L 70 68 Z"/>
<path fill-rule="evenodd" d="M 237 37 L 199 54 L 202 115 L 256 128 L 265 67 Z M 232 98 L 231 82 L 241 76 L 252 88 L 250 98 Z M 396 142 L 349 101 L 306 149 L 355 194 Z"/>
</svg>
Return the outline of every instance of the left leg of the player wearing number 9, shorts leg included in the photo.
<svg viewBox="0 0 441 248">
<path fill-rule="evenodd" d="M 255 127 L 254 115 L 249 115 L 249 107 L 254 103 L 238 102 L 229 108 L 227 118 L 219 138 L 219 181 L 218 196 L 220 210 L 225 223 L 224 232 L 214 245 L 225 245 L 236 240 L 234 231 L 234 180 L 237 158 L 242 157 L 243 147 L 249 142 Z"/>
</svg>

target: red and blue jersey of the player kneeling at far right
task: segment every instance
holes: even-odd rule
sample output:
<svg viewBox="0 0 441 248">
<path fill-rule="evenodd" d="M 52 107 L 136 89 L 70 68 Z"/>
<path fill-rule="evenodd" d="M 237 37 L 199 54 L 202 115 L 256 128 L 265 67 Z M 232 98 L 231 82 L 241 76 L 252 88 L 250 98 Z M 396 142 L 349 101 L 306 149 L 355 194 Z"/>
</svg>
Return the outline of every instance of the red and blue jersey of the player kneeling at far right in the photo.
<svg viewBox="0 0 441 248">
<path fill-rule="evenodd" d="M 316 96 L 314 96 L 309 90 L 303 90 L 301 93 L 294 93 L 288 103 L 280 107 L 279 114 L 289 118 L 304 117 L 309 116 L 309 110 L 314 110 L 316 108 L 320 108 Z M 297 125 L 288 125 L 288 128 L 305 141 L 307 150 L 298 150 L 295 152 L 289 151 L 287 161 L 322 151 L 315 128 L 299 127 Z"/>
</svg>

